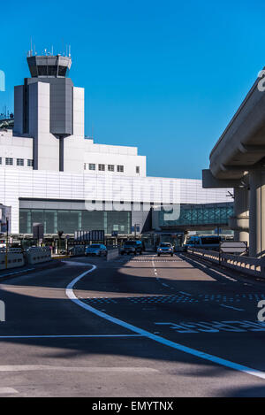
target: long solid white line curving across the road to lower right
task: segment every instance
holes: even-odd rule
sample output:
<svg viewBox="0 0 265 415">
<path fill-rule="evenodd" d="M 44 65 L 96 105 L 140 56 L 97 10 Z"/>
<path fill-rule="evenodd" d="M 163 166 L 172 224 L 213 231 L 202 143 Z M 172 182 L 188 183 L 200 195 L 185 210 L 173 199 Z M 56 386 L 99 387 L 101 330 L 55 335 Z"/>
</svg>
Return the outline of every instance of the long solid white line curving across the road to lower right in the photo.
<svg viewBox="0 0 265 415">
<path fill-rule="evenodd" d="M 85 275 L 87 275 L 87 273 L 92 273 L 95 270 L 95 268 L 96 268 L 96 266 L 92 265 L 92 268 L 90 270 L 87 270 L 85 273 L 81 273 L 78 277 L 76 277 L 74 280 L 72 280 L 68 284 L 68 286 L 66 287 L 66 290 L 65 290 L 66 296 L 68 296 L 68 298 L 70 298 L 70 300 L 72 300 L 73 303 L 79 305 L 79 307 L 82 307 L 83 309 L 85 309 L 87 311 L 93 312 L 98 317 L 102 317 L 102 319 L 106 319 L 106 320 L 110 321 L 110 323 L 117 324 L 118 326 L 121 326 L 121 327 L 125 327 L 128 330 L 133 331 L 134 333 L 141 334 L 141 335 L 147 337 L 150 340 L 154 340 L 155 342 L 159 342 L 159 343 L 161 343 L 165 346 L 169 346 L 172 349 L 183 351 L 183 352 L 188 353 L 190 355 L 193 355 L 195 357 L 200 357 L 204 360 L 208 360 L 210 362 L 216 363 L 217 365 L 223 365 L 225 367 L 229 367 L 230 369 L 233 369 L 233 370 L 236 370 L 236 371 L 239 371 L 239 372 L 243 372 L 243 373 L 247 373 L 247 374 L 251 374 L 252 376 L 256 376 L 256 377 L 261 378 L 261 379 L 265 379 L 265 373 L 261 372 L 257 369 L 253 369 L 253 368 L 247 367 L 245 365 L 240 365 L 238 363 L 231 362 L 230 360 L 223 359 L 222 357 L 209 355 L 208 353 L 204 353 L 203 351 L 192 349 L 190 347 L 187 347 L 187 346 L 185 346 L 183 344 L 180 344 L 180 343 L 177 343 L 177 342 L 171 342 L 170 340 L 164 339 L 161 336 L 150 333 L 147 330 L 143 330 L 140 327 L 133 326 L 132 324 L 126 323 L 125 321 L 123 321 L 121 319 L 117 319 L 115 317 L 112 317 L 109 314 L 106 314 L 105 312 L 96 310 L 94 307 L 91 307 L 88 304 L 82 303 L 77 298 L 77 296 L 75 296 L 75 294 L 73 292 L 73 287 L 79 280 L 81 280 Z"/>
</svg>

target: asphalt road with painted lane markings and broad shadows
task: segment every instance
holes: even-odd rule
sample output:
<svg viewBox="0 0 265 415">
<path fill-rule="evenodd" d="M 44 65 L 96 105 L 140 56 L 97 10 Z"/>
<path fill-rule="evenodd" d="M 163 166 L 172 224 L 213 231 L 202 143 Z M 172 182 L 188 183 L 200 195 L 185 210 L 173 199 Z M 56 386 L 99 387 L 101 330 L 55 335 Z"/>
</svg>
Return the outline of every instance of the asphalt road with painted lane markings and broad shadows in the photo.
<svg viewBox="0 0 265 415">
<path fill-rule="evenodd" d="M 182 254 L 79 257 L 0 299 L 0 396 L 265 396 L 262 281 Z"/>
</svg>

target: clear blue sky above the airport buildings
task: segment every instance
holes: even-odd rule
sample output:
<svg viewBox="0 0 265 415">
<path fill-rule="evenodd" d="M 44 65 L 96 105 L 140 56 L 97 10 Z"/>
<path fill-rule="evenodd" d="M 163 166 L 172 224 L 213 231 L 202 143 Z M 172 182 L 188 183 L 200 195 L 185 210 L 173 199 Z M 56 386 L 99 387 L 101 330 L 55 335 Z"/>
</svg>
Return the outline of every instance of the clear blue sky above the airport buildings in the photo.
<svg viewBox="0 0 265 415">
<path fill-rule="evenodd" d="M 0 112 L 13 109 L 13 86 L 29 76 L 31 37 L 38 54 L 71 44 L 86 134 L 138 146 L 148 175 L 200 179 L 265 65 L 264 15 L 255 0 L 2 2 Z"/>
</svg>

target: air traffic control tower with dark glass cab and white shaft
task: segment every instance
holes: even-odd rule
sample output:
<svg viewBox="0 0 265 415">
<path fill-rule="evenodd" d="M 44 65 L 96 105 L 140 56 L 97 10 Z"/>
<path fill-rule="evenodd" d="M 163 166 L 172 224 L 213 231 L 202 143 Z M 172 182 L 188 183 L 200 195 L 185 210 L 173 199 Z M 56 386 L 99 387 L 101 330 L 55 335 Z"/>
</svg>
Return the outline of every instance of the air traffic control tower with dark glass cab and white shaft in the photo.
<svg viewBox="0 0 265 415">
<path fill-rule="evenodd" d="M 67 77 L 70 56 L 32 56 L 30 51 L 27 64 L 31 78 L 15 87 L 14 133 L 34 139 L 34 170 L 63 172 L 66 158 L 73 164 L 80 159 L 76 139 L 84 138 L 84 89 Z"/>
</svg>

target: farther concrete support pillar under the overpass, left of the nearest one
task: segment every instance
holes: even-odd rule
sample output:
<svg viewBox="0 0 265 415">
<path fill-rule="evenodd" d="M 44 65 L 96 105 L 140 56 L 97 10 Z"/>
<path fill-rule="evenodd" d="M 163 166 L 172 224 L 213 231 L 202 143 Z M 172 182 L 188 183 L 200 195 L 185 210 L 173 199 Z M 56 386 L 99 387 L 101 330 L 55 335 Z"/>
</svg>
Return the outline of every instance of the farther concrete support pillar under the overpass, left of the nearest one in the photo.
<svg viewBox="0 0 265 415">
<path fill-rule="evenodd" d="M 249 243 L 249 191 L 247 188 L 234 188 L 234 216 L 230 227 L 235 232 L 236 242 Z"/>
</svg>

